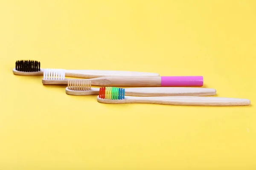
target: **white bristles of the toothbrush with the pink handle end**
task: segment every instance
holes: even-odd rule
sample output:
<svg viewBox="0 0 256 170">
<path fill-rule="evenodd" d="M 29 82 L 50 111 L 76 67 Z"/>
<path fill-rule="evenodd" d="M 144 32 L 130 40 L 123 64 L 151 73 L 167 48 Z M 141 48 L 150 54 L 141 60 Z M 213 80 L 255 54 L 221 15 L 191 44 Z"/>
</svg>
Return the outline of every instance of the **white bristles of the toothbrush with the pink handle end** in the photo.
<svg viewBox="0 0 256 170">
<path fill-rule="evenodd" d="M 62 80 L 65 79 L 64 69 L 44 69 L 44 79 Z"/>
</svg>

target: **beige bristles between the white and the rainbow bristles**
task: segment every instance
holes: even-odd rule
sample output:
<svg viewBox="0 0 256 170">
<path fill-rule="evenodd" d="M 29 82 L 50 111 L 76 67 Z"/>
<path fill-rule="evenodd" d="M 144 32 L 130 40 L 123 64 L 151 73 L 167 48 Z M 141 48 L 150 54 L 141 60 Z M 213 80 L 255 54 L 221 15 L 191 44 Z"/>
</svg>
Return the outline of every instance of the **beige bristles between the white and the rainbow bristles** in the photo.
<svg viewBox="0 0 256 170">
<path fill-rule="evenodd" d="M 67 88 L 74 91 L 87 91 L 91 89 L 91 81 L 84 79 L 70 79 Z"/>
</svg>

